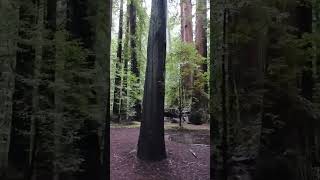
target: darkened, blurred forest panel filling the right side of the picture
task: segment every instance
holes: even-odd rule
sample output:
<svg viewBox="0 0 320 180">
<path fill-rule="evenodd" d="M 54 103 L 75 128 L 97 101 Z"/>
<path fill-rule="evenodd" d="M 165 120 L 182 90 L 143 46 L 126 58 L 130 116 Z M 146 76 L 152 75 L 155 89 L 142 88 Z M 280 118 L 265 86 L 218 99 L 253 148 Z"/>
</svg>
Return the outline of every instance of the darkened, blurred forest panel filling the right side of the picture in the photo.
<svg viewBox="0 0 320 180">
<path fill-rule="evenodd" d="M 210 7 L 212 176 L 319 179 L 319 2 Z"/>
</svg>

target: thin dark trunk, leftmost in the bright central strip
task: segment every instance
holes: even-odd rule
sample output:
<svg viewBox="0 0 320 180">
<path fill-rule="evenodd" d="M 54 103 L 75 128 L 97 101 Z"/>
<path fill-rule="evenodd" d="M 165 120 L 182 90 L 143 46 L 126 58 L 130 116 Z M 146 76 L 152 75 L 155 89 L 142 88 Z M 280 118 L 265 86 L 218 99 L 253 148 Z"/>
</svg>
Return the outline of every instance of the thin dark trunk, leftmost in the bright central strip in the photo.
<svg viewBox="0 0 320 180">
<path fill-rule="evenodd" d="M 116 62 L 116 78 L 114 88 L 113 101 L 113 116 L 114 121 L 120 121 L 120 100 L 121 100 L 121 67 L 122 67 L 122 36 L 123 36 L 123 0 L 120 0 L 120 15 L 119 15 L 119 31 L 118 31 L 118 49 Z"/>
</svg>

